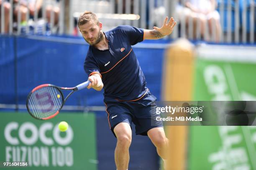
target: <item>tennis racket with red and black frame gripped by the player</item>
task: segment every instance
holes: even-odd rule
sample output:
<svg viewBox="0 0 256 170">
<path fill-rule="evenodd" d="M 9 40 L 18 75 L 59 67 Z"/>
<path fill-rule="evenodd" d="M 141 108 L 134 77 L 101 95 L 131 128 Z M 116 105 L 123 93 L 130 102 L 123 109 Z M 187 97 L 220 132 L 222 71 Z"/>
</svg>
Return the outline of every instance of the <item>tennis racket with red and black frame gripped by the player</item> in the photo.
<svg viewBox="0 0 256 170">
<path fill-rule="evenodd" d="M 44 84 L 35 87 L 27 97 L 27 110 L 29 114 L 40 120 L 48 120 L 56 115 L 67 101 L 70 95 L 77 90 L 84 89 L 90 81 L 83 82 L 76 87 L 58 87 L 56 85 Z M 61 90 L 72 90 L 64 99 Z"/>
</svg>

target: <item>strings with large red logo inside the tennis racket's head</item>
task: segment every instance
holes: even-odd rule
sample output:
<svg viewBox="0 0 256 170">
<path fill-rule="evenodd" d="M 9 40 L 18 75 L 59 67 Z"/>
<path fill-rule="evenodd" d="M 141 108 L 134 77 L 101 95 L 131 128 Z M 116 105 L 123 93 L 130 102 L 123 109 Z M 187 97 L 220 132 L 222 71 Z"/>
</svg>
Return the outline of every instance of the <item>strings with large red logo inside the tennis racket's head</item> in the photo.
<svg viewBox="0 0 256 170">
<path fill-rule="evenodd" d="M 28 107 L 33 116 L 40 119 L 50 117 L 60 110 L 63 98 L 58 97 L 60 91 L 56 87 L 41 87 L 31 93 Z"/>
</svg>

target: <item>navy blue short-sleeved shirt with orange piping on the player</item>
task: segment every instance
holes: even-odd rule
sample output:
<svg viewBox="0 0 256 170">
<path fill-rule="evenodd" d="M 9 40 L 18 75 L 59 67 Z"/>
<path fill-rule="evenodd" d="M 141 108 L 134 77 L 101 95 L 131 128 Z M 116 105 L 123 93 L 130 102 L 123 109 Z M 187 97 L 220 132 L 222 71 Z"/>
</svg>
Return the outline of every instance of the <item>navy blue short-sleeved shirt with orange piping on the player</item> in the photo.
<svg viewBox="0 0 256 170">
<path fill-rule="evenodd" d="M 146 93 L 146 80 L 131 45 L 143 41 L 144 30 L 119 26 L 105 32 L 108 50 L 89 47 L 84 70 L 90 76 L 99 72 L 104 85 L 105 100 L 136 100 Z"/>
</svg>

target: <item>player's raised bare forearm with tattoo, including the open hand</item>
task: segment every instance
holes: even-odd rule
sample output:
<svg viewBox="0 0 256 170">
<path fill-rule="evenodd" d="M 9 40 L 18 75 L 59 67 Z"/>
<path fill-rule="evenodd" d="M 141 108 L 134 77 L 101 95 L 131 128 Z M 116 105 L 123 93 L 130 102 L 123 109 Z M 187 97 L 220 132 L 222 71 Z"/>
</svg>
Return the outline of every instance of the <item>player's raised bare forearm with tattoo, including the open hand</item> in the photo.
<svg viewBox="0 0 256 170">
<path fill-rule="evenodd" d="M 144 40 L 156 40 L 172 33 L 176 22 L 171 18 L 167 23 L 168 17 L 165 18 L 161 28 L 154 27 L 153 30 L 144 30 Z"/>
</svg>

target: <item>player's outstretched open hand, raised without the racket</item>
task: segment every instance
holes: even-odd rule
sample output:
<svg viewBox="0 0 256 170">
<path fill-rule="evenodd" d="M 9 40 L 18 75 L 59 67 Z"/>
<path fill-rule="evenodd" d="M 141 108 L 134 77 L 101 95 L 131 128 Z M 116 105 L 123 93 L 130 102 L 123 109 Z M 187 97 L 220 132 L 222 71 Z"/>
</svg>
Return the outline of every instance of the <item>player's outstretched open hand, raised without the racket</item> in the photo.
<svg viewBox="0 0 256 170">
<path fill-rule="evenodd" d="M 168 23 L 167 21 L 168 17 L 165 18 L 164 24 L 162 25 L 161 28 L 154 27 L 154 29 L 160 32 L 162 35 L 172 34 L 173 28 L 176 25 L 176 21 L 174 22 L 174 18 L 171 18 Z"/>
</svg>

